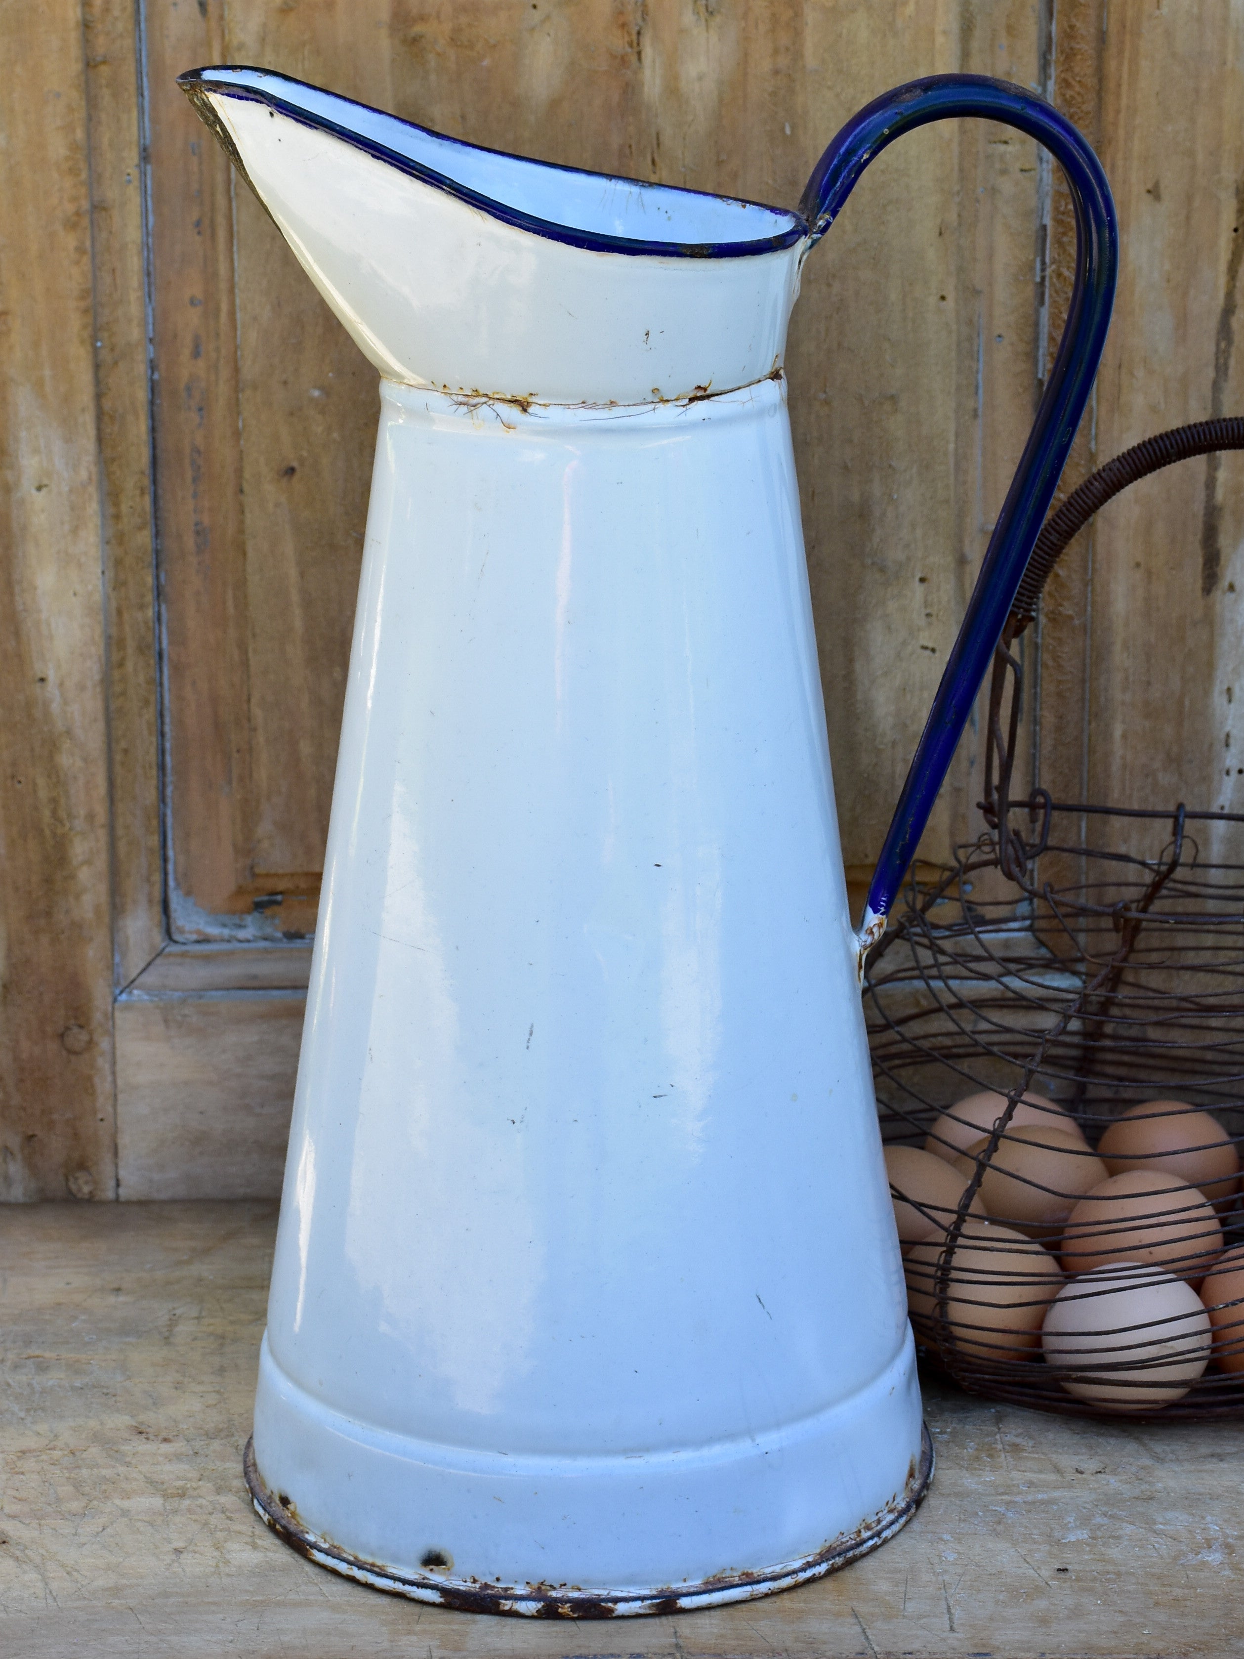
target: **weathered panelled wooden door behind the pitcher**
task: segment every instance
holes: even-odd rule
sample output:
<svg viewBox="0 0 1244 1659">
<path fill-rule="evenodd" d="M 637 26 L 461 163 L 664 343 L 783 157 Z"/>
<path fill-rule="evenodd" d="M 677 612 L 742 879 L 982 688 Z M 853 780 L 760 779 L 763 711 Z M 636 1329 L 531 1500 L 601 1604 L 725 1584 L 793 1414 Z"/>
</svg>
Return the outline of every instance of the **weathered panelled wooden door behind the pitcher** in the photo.
<svg viewBox="0 0 1244 1659">
<path fill-rule="evenodd" d="M 1237 406 L 1242 32 L 1241 0 L 0 10 L 27 66 L 0 116 L 20 181 L 0 242 L 0 1194 L 279 1180 L 377 382 L 181 70 L 262 63 L 486 144 L 780 204 L 887 86 L 1043 86 L 1101 146 L 1125 249 L 1070 484 Z M 960 124 L 887 151 L 804 272 L 791 420 L 858 893 L 1032 418 L 1068 247 L 1033 146 Z M 1236 798 L 1242 473 L 1188 469 L 1068 556 L 1025 647 L 1032 768 L 1060 793 Z M 977 750 L 972 732 L 924 856 L 972 830 Z"/>
</svg>

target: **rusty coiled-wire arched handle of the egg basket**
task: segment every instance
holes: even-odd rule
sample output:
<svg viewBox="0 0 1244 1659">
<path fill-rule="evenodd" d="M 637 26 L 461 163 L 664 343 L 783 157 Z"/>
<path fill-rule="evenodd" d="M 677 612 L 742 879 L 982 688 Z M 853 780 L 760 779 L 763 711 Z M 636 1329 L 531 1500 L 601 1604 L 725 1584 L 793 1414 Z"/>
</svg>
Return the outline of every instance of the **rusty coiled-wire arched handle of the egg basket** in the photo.
<svg viewBox="0 0 1244 1659">
<path fill-rule="evenodd" d="M 1106 461 L 1080 484 L 1050 514 L 1042 526 L 1032 557 L 1015 592 L 1015 602 L 1002 629 L 1002 639 L 994 652 L 994 679 L 989 690 L 989 742 L 985 755 L 985 798 L 980 803 L 985 820 L 999 838 L 999 863 L 1003 874 L 1018 879 L 1023 874 L 1032 849 L 1007 828 L 1010 805 L 1010 776 L 1015 765 L 1015 738 L 1020 718 L 1020 664 L 1010 647 L 1037 617 L 1037 602 L 1067 544 L 1128 484 L 1159 473 L 1176 461 L 1191 461 L 1198 455 L 1214 455 L 1219 450 L 1244 450 L 1244 416 L 1224 415 L 1217 420 L 1198 420 L 1189 426 L 1171 426 L 1133 445 L 1113 461 Z M 1007 732 L 1002 730 L 1002 698 L 1007 672 L 1015 677 L 1010 698 Z M 997 770 L 997 778 L 995 778 Z M 1047 801 L 1048 808 L 1048 801 Z M 1048 810 L 1047 810 L 1048 818 Z M 1040 838 L 1043 839 L 1043 836 Z"/>
</svg>

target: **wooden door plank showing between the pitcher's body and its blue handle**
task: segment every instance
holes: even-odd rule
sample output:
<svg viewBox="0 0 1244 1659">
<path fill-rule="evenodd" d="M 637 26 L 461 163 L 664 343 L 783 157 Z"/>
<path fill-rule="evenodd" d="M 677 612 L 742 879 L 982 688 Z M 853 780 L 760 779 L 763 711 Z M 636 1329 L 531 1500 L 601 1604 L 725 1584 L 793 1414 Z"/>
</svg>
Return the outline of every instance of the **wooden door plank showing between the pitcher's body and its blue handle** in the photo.
<svg viewBox="0 0 1244 1659">
<path fill-rule="evenodd" d="M 851 3 L 809 15 L 809 121 L 821 143 L 889 86 L 957 66 L 954 8 L 901 10 Z M 959 143 L 955 126 L 937 124 L 872 163 L 804 270 L 791 327 L 838 815 L 861 876 L 881 849 L 959 609 Z M 931 839 L 940 841 L 945 796 L 937 813 Z"/>
</svg>

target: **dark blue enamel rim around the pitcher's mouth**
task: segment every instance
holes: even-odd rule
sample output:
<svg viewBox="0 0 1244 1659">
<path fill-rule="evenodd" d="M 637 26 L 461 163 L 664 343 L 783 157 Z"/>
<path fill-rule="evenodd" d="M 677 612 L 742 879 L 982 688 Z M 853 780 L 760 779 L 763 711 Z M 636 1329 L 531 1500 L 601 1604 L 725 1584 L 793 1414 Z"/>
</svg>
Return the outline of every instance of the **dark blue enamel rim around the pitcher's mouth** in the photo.
<svg viewBox="0 0 1244 1659">
<path fill-rule="evenodd" d="M 627 236 L 607 236 L 600 231 L 577 231 L 571 226 L 556 224 L 551 219 L 539 219 L 534 214 L 521 212 L 516 207 L 506 206 L 506 202 L 494 201 L 491 196 L 483 196 L 479 191 L 468 189 L 456 179 L 446 178 L 443 173 L 436 173 L 435 168 L 428 168 L 420 161 L 411 161 L 410 156 L 403 156 L 372 138 L 363 138 L 348 126 L 342 126 L 338 121 L 328 119 L 328 116 L 300 109 L 297 105 L 289 103 L 289 100 L 282 98 L 275 91 L 267 91 L 262 86 L 239 86 L 237 81 L 221 80 L 219 76 L 222 70 L 231 70 L 234 73 L 242 70 L 247 75 L 264 75 L 282 86 L 307 86 L 309 91 L 322 91 L 322 88 L 312 86 L 310 81 L 299 81 L 292 75 L 277 75 L 274 70 L 254 68 L 249 63 L 217 63 L 204 70 L 187 70 L 184 75 L 177 76 L 177 86 L 181 86 L 186 96 L 194 103 L 202 119 L 216 131 L 217 139 L 221 139 L 222 146 L 229 151 L 229 158 L 242 178 L 245 178 L 245 168 L 234 151 L 232 143 L 229 143 L 227 134 L 224 134 L 219 129 L 219 124 L 212 119 L 211 106 L 206 105 L 202 96 L 204 93 L 212 93 L 217 98 L 239 98 L 245 103 L 265 105 L 269 109 L 277 109 L 290 121 L 297 121 L 299 126 L 312 128 L 317 133 L 332 133 L 333 138 L 340 138 L 342 143 L 353 146 L 353 149 L 362 149 L 365 154 L 375 156 L 377 161 L 383 161 L 386 166 L 396 168 L 398 173 L 405 173 L 413 179 L 433 184 L 448 196 L 456 196 L 458 201 L 468 202 L 471 207 L 478 207 L 481 212 L 491 214 L 491 217 L 499 219 L 503 224 L 514 226 L 518 231 L 531 231 L 534 236 L 544 236 L 552 242 L 567 242 L 571 247 L 586 247 L 602 254 L 658 254 L 665 259 L 741 259 L 755 254 L 781 252 L 786 247 L 795 247 L 796 242 L 808 241 L 809 236 L 809 226 L 801 214 L 793 212 L 790 207 L 773 207 L 770 202 L 746 201 L 741 196 L 718 196 L 715 199 L 738 202 L 740 207 L 763 207 L 765 212 L 783 214 L 783 217 L 791 221 L 790 231 L 783 236 L 766 236 L 750 242 L 649 242 Z M 333 93 L 333 96 L 340 95 Z M 353 109 L 367 109 L 368 114 L 383 114 L 390 121 L 400 119 L 398 116 L 388 114 L 385 109 L 377 109 L 375 105 L 358 103 L 353 98 L 342 98 L 342 103 Z M 458 144 L 461 149 L 483 151 L 488 156 L 506 156 L 506 159 L 511 161 L 516 159 L 509 154 L 509 151 L 491 149 L 486 144 L 468 144 L 464 139 L 449 138 L 448 133 L 438 133 L 431 126 L 420 126 L 418 121 L 401 121 L 401 126 L 410 128 L 413 133 L 428 133 L 430 138 L 443 139 L 446 144 Z M 536 166 L 547 168 L 551 173 L 574 173 L 579 178 L 610 179 L 617 184 L 644 182 L 642 179 L 622 178 L 617 173 L 595 173 L 590 168 L 564 168 L 552 161 L 539 161 Z M 662 191 L 672 191 L 678 196 L 712 199 L 707 191 L 688 191 L 677 184 L 662 184 L 658 187 Z"/>
</svg>

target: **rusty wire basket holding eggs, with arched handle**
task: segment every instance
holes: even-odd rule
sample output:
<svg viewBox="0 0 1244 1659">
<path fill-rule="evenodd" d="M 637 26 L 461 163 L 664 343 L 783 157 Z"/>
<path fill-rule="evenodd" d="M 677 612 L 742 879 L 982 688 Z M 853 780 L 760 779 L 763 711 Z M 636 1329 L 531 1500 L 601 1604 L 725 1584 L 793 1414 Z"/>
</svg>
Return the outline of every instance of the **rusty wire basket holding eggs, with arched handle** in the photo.
<svg viewBox="0 0 1244 1659">
<path fill-rule="evenodd" d="M 1244 1412 L 1244 815 L 1010 796 L 1012 645 L 1062 551 L 1138 478 L 1231 448 L 1244 420 L 1163 433 L 1048 519 L 994 664 L 987 833 L 866 964 L 922 1357 L 1043 1410 Z"/>
</svg>

